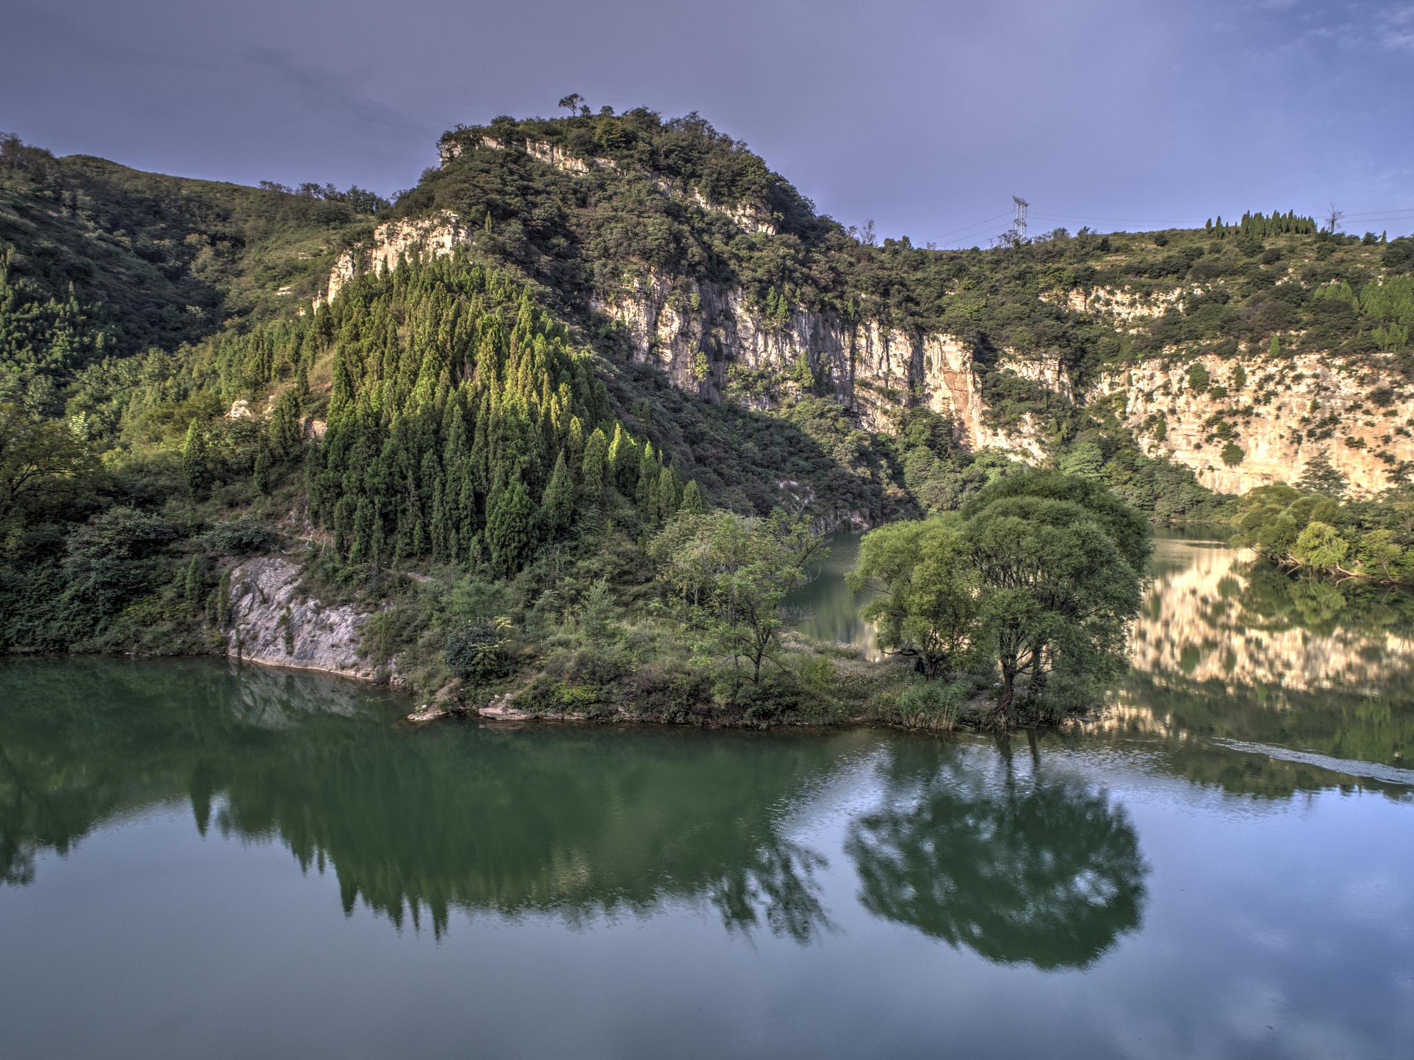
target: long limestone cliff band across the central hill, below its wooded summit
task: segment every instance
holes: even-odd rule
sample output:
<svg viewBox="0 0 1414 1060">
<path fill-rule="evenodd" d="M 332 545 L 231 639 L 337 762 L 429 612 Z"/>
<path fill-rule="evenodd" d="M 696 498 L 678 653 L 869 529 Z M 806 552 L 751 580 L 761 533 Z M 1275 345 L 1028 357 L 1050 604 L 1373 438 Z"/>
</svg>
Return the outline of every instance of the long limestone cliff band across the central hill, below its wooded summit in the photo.
<svg viewBox="0 0 1414 1060">
<path fill-rule="evenodd" d="M 744 373 L 793 384 L 806 366 L 868 430 L 887 431 L 896 410 L 925 404 L 952 417 L 973 448 L 1032 458 L 1042 452 L 1029 420 L 1011 431 L 988 425 L 973 351 L 954 335 L 911 335 L 878 321 L 805 310 L 776 325 L 740 290 L 653 271 L 592 307 L 618 322 L 635 359 L 656 363 L 676 386 L 707 400 L 727 396 L 764 407 L 771 387 L 762 393 L 740 386 Z M 1070 391 L 1055 359 L 1007 351 L 997 369 Z"/>
</svg>

